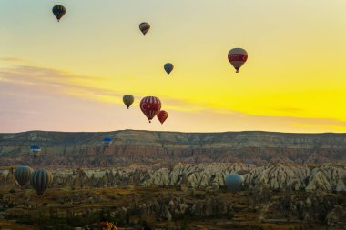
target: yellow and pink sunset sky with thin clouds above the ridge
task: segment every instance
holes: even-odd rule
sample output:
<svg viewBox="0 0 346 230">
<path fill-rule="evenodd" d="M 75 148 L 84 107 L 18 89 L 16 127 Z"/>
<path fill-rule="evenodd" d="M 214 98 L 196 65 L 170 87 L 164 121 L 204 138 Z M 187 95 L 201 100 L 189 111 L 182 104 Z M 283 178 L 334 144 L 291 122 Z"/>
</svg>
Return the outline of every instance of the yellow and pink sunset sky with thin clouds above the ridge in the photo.
<svg viewBox="0 0 346 230">
<path fill-rule="evenodd" d="M 0 1 L 1 133 L 346 132 L 344 0 Z M 140 111 L 147 95 L 164 125 Z"/>
</svg>

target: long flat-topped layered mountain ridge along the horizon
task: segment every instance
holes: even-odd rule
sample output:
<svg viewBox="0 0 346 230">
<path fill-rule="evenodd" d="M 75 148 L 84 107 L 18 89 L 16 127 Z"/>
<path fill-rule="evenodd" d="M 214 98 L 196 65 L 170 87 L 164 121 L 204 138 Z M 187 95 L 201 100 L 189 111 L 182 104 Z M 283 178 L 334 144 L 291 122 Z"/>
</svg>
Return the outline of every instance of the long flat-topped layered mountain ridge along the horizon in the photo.
<svg viewBox="0 0 346 230">
<path fill-rule="evenodd" d="M 103 148 L 102 139 L 114 143 Z M 42 156 L 29 155 L 41 145 Z M 320 164 L 346 161 L 346 134 L 287 134 L 260 131 L 178 133 L 121 130 L 114 132 L 29 131 L 0 134 L 0 165 L 105 167 L 182 163 L 269 162 Z"/>
</svg>

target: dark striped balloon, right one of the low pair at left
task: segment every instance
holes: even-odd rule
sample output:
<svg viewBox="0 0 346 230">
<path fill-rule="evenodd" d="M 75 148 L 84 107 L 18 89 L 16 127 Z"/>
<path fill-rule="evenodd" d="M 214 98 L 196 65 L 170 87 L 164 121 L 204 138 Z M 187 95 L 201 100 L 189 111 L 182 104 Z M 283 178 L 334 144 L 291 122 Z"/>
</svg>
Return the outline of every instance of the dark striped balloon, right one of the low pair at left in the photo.
<svg viewBox="0 0 346 230">
<path fill-rule="evenodd" d="M 52 182 L 53 175 L 44 168 L 37 169 L 30 175 L 30 185 L 35 188 L 37 195 L 43 195 Z"/>
</svg>

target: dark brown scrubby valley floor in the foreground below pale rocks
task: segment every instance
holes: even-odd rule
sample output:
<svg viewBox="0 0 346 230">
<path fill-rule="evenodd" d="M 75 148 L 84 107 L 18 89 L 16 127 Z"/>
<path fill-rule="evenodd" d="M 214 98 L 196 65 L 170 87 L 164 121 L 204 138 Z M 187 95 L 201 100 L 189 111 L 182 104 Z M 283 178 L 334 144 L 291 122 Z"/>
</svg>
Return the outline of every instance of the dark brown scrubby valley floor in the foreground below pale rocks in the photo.
<svg viewBox="0 0 346 230">
<path fill-rule="evenodd" d="M 0 189 L 0 218 L 3 218 L 0 229 L 60 230 L 85 225 L 100 229 L 101 215 L 120 227 L 134 229 L 144 220 L 154 229 L 341 229 L 327 226 L 325 221 L 307 221 L 302 216 L 294 216 L 292 210 L 296 207 L 293 204 L 300 204 L 300 200 L 307 200 L 307 197 L 315 199 L 306 192 L 261 191 L 254 194 L 241 191 L 232 194 L 225 190 L 180 187 L 47 189 L 45 195 L 38 196 L 32 189 L 3 187 Z M 342 206 L 346 195 L 323 194 L 322 200 L 339 202 Z M 300 212 L 308 213 L 308 210 Z M 324 209 L 321 214 L 323 212 Z"/>
</svg>

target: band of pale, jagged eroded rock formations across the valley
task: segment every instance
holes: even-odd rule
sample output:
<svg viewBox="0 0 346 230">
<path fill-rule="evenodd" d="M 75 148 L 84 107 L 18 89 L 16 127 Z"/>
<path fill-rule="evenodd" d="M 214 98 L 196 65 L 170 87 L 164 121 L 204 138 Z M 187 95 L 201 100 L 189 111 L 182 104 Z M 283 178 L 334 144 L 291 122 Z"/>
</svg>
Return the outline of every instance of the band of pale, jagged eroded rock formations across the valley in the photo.
<svg viewBox="0 0 346 230">
<path fill-rule="evenodd" d="M 244 177 L 243 189 L 259 188 L 293 191 L 346 191 L 346 166 L 292 164 L 178 164 L 154 169 L 152 167 L 124 167 L 108 169 L 53 170 L 53 187 L 87 188 L 117 186 L 176 186 L 182 191 L 202 188 L 209 191 L 225 186 L 225 175 Z M 0 185 L 15 186 L 9 171 L 0 174 Z"/>
</svg>

